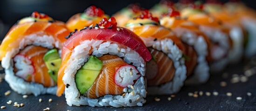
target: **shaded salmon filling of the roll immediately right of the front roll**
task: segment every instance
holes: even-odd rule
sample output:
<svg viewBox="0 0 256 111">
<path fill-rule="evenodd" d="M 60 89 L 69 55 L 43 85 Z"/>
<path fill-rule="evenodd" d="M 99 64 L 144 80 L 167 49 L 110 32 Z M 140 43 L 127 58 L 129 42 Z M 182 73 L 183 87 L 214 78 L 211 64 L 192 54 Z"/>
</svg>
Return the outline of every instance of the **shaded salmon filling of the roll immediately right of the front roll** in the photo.
<svg viewBox="0 0 256 111">
<path fill-rule="evenodd" d="M 146 64 L 147 85 L 158 86 L 171 81 L 175 73 L 173 61 L 161 51 L 148 49 L 153 59 Z"/>
</svg>

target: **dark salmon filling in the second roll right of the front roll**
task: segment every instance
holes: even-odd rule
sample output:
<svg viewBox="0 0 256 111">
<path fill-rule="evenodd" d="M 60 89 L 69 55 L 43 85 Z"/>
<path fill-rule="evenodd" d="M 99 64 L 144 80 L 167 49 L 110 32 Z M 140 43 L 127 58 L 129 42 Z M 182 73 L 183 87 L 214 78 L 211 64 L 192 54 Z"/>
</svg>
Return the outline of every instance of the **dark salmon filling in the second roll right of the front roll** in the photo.
<svg viewBox="0 0 256 111">
<path fill-rule="evenodd" d="M 187 67 L 187 77 L 190 76 L 195 66 L 197 65 L 197 53 L 195 52 L 194 48 L 192 46 L 189 46 L 188 44 L 184 43 L 185 51 L 185 65 Z"/>
</svg>

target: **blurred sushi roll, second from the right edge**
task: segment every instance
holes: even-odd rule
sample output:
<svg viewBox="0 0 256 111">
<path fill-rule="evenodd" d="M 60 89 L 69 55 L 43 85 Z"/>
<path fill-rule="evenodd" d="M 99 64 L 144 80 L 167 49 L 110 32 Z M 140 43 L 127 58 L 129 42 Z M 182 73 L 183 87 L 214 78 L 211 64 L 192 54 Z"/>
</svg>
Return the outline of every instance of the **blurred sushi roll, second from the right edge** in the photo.
<svg viewBox="0 0 256 111">
<path fill-rule="evenodd" d="M 239 23 L 239 17 L 236 14 L 225 11 L 224 6 L 218 0 L 208 0 L 203 7 L 206 12 L 221 20 L 222 25 L 230 30 L 229 36 L 233 41 L 233 47 L 230 49 L 228 59 L 231 63 L 240 62 L 243 56 L 245 30 Z"/>
</svg>

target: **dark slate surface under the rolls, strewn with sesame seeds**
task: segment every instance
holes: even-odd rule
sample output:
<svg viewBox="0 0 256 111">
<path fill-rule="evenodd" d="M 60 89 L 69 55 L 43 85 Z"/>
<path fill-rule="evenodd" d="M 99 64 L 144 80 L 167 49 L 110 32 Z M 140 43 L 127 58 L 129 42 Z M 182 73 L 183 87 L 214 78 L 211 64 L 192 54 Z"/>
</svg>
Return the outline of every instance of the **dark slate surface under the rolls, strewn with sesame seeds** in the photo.
<svg viewBox="0 0 256 111">
<path fill-rule="evenodd" d="M 254 64 L 254 65 L 252 65 Z M 11 90 L 8 84 L 3 80 L 0 83 L 0 106 L 5 105 L 6 109 L 0 109 L 0 111 L 42 111 L 49 107 L 51 111 L 256 111 L 256 75 L 249 77 L 247 82 L 231 83 L 230 80 L 233 74 L 242 75 L 246 68 L 256 69 L 256 64 L 250 61 L 243 62 L 236 65 L 231 65 L 223 72 L 228 73 L 228 77 L 223 77 L 223 72 L 213 73 L 210 80 L 201 86 L 184 86 L 180 93 L 176 94 L 171 101 L 166 96 L 150 96 L 147 97 L 147 103 L 142 107 L 89 107 L 89 106 L 72 106 L 66 104 L 64 96 L 56 97 L 54 95 L 42 95 L 35 97 L 28 95 L 27 99 L 23 99 L 22 95 L 19 95 L 12 91 L 8 96 L 4 93 L 7 90 Z M 220 86 L 221 81 L 226 81 L 227 86 Z M 203 96 L 198 98 L 189 97 L 189 92 L 203 91 Z M 218 96 L 205 95 L 205 92 L 218 92 Z M 232 93 L 231 97 L 228 97 L 226 93 Z M 246 93 L 252 93 L 248 96 Z M 242 100 L 236 100 L 236 97 L 242 97 Z M 154 101 L 155 97 L 159 97 L 159 102 Z M 39 99 L 42 98 L 42 102 Z M 53 99 L 51 103 L 48 99 Z M 12 100 L 12 105 L 8 105 L 6 102 Z M 23 103 L 23 107 L 14 107 L 14 102 L 19 104 Z"/>
</svg>

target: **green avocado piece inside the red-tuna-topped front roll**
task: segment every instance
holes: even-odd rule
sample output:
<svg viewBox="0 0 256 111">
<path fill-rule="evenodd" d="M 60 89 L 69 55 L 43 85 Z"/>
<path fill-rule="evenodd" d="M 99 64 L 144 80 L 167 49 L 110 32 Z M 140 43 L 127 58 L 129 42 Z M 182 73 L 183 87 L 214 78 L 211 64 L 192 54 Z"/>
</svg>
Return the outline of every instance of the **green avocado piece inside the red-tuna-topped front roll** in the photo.
<svg viewBox="0 0 256 111">
<path fill-rule="evenodd" d="M 76 86 L 80 94 L 84 94 L 97 79 L 103 62 L 95 56 L 90 56 L 88 61 L 76 73 Z"/>
</svg>

